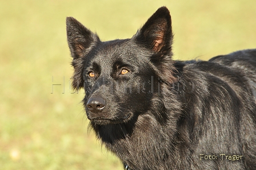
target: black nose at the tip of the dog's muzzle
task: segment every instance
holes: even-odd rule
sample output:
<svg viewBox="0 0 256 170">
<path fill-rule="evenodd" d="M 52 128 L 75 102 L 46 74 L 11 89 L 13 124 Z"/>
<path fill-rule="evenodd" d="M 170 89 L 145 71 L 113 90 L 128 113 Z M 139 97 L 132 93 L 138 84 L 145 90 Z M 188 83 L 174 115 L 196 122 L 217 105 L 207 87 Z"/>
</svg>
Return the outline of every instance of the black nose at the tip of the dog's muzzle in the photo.
<svg viewBox="0 0 256 170">
<path fill-rule="evenodd" d="M 102 98 L 90 98 L 86 106 L 91 112 L 101 112 L 105 107 L 105 100 Z"/>
</svg>

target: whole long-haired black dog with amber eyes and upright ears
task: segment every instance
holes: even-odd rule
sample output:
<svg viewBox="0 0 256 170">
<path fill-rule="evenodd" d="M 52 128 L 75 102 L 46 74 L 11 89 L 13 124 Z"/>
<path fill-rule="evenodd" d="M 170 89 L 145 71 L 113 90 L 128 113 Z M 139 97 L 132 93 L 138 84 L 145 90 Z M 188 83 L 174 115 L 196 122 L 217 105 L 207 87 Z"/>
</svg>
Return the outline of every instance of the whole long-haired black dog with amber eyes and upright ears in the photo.
<svg viewBox="0 0 256 170">
<path fill-rule="evenodd" d="M 166 7 L 131 39 L 66 22 L 73 87 L 126 169 L 256 169 L 256 49 L 174 61 Z"/>
</svg>

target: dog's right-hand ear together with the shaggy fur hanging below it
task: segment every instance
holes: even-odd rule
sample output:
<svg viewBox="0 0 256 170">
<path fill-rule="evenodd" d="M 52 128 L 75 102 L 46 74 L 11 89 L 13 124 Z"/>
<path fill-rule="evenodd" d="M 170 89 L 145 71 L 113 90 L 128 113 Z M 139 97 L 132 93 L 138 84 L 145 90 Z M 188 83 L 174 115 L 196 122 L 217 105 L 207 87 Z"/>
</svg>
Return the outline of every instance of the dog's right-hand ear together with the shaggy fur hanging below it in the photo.
<svg viewBox="0 0 256 170">
<path fill-rule="evenodd" d="M 137 31 L 133 39 L 142 47 L 153 51 L 150 61 L 154 64 L 154 69 L 159 71 L 158 76 L 163 82 L 168 84 L 177 80 L 174 76 L 174 61 L 171 59 L 171 16 L 166 7 L 159 8 Z"/>
</svg>

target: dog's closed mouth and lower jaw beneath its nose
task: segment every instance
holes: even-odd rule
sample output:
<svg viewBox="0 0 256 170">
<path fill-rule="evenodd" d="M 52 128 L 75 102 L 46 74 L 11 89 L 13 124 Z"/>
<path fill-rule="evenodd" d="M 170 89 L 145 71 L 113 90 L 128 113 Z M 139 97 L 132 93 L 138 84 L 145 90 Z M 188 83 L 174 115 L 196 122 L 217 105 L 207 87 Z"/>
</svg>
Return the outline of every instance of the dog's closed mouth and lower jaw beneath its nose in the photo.
<svg viewBox="0 0 256 170">
<path fill-rule="evenodd" d="M 131 114 L 126 114 L 121 119 L 106 119 L 106 118 L 88 118 L 91 122 L 99 125 L 107 125 L 107 124 L 119 124 L 125 123 L 129 120 Z"/>
</svg>

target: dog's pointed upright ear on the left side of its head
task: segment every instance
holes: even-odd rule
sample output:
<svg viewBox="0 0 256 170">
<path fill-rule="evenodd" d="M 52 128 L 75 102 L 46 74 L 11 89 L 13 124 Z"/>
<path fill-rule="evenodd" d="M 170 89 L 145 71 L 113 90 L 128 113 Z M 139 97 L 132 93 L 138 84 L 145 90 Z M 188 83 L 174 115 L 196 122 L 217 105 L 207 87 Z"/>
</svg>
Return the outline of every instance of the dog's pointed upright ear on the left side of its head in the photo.
<svg viewBox="0 0 256 170">
<path fill-rule="evenodd" d="M 73 17 L 66 18 L 67 43 L 73 59 L 85 56 L 99 42 L 99 37 Z"/>
</svg>

